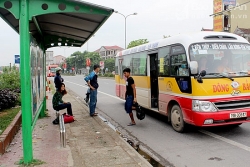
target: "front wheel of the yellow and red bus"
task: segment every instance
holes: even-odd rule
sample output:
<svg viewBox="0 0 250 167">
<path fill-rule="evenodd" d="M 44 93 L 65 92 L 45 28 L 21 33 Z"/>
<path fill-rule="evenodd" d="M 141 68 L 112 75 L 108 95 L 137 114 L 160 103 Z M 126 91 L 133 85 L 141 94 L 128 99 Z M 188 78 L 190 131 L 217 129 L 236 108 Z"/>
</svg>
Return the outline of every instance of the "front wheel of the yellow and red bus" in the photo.
<svg viewBox="0 0 250 167">
<path fill-rule="evenodd" d="M 171 109 L 171 124 L 175 131 L 184 132 L 185 122 L 183 120 L 182 111 L 178 105 L 174 105 Z"/>
</svg>

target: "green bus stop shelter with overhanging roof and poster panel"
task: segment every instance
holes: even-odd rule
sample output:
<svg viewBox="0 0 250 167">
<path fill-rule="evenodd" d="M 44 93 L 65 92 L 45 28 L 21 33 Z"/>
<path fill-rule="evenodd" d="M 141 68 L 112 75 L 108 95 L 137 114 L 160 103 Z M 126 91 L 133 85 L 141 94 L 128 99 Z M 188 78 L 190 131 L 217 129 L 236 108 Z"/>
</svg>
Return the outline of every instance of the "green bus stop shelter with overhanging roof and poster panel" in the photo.
<svg viewBox="0 0 250 167">
<path fill-rule="evenodd" d="M 81 47 L 113 12 L 81 0 L 0 0 L 0 16 L 20 35 L 24 163 L 33 160 L 32 130 L 38 117 L 45 116 L 45 51 Z"/>
</svg>

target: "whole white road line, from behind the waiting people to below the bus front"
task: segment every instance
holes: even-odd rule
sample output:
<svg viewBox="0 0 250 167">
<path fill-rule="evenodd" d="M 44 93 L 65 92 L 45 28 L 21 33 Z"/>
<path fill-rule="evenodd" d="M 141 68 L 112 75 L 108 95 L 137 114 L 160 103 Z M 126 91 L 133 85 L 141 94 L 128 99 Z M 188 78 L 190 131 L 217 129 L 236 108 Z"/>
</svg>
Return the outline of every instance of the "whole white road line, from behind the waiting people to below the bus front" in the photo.
<svg viewBox="0 0 250 167">
<path fill-rule="evenodd" d="M 81 86 L 81 87 L 84 87 L 84 88 L 88 88 L 87 86 L 83 86 L 83 85 L 80 85 L 80 84 L 76 84 L 76 83 L 74 83 L 74 82 L 69 82 L 69 81 L 65 81 L 65 82 L 68 82 L 68 83 L 71 83 L 71 84 L 74 84 L 74 85 L 77 85 L 77 86 Z M 104 95 L 110 96 L 110 97 L 115 98 L 115 99 L 117 99 L 117 100 L 124 101 L 123 99 L 120 99 L 120 98 L 118 98 L 118 97 L 116 97 L 116 96 L 112 96 L 112 95 L 110 95 L 110 94 L 107 94 L 107 93 L 104 93 L 104 92 L 101 92 L 101 91 L 98 91 L 98 93 L 102 93 L 102 94 L 104 94 Z M 213 137 L 213 138 L 215 138 L 215 139 L 218 139 L 218 140 L 220 140 L 220 141 L 223 141 L 223 142 L 225 142 L 225 143 L 231 144 L 231 145 L 233 145 L 233 146 L 235 146 L 235 147 L 238 147 L 238 148 L 240 148 L 240 149 L 243 149 L 243 150 L 246 150 L 246 151 L 250 152 L 250 147 L 248 147 L 248 146 L 246 146 L 246 145 L 244 145 L 244 144 L 238 143 L 238 142 L 236 142 L 236 141 L 227 139 L 227 138 L 225 138 L 225 137 L 219 136 L 219 135 L 217 135 L 217 134 L 214 134 L 214 133 L 211 133 L 211 132 L 208 132 L 208 131 L 205 131 L 205 130 L 199 130 L 199 132 L 201 132 L 201 133 L 203 133 L 203 134 L 205 134 L 205 135 L 211 136 L 211 137 Z"/>
</svg>

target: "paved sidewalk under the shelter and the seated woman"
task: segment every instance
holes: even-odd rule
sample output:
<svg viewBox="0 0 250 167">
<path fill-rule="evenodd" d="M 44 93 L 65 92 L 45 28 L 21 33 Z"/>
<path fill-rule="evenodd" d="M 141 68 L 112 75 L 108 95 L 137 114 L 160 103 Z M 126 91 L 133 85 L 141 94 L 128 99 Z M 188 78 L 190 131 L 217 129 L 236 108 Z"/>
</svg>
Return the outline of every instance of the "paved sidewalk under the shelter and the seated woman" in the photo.
<svg viewBox="0 0 250 167">
<path fill-rule="evenodd" d="M 52 95 L 48 94 L 47 108 L 50 117 L 39 119 L 33 131 L 34 158 L 45 162 L 40 167 L 136 167 L 151 166 L 114 130 L 99 117 L 90 117 L 87 107 L 70 94 L 64 101 L 72 104 L 77 121 L 66 124 L 67 146 L 60 147 L 58 125 L 53 125 L 55 111 Z M 60 111 L 64 113 L 66 110 Z M 9 152 L 0 156 L 0 167 L 15 167 L 22 157 L 21 130 Z"/>
</svg>

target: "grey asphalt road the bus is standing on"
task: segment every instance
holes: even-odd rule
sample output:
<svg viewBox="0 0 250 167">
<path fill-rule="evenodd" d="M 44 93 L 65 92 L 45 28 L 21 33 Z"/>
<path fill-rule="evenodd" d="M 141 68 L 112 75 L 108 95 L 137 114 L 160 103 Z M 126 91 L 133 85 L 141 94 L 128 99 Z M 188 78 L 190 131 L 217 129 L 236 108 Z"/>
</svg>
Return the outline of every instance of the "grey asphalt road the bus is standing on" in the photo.
<svg viewBox="0 0 250 167">
<path fill-rule="evenodd" d="M 87 87 L 83 76 L 64 77 L 66 88 L 84 98 Z M 129 116 L 124 101 L 115 96 L 115 81 L 100 79 L 97 107 L 118 129 L 143 143 L 159 158 L 176 167 L 247 167 L 250 166 L 250 124 L 224 128 L 190 128 L 175 132 L 166 117 L 148 112 L 136 126 L 127 126 Z M 73 109 L 74 110 L 74 109 Z M 157 159 L 157 158 L 156 158 Z"/>
</svg>

